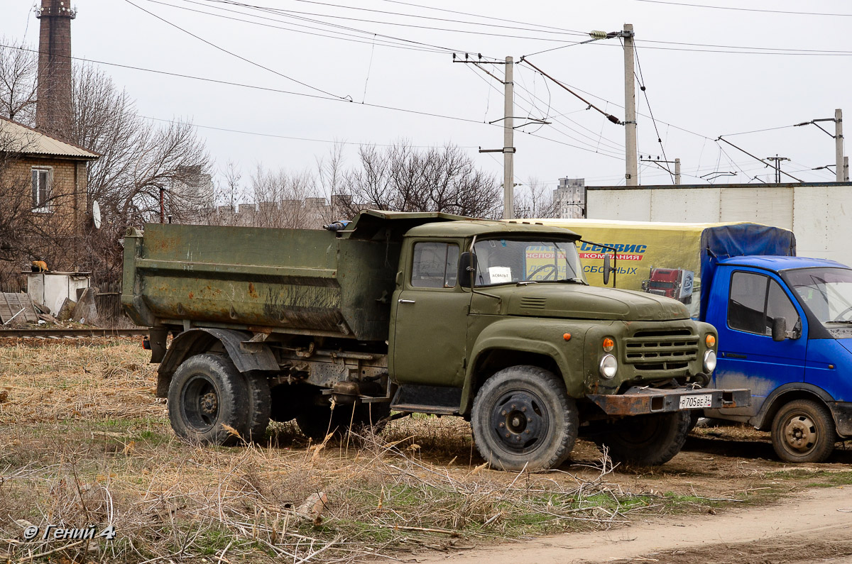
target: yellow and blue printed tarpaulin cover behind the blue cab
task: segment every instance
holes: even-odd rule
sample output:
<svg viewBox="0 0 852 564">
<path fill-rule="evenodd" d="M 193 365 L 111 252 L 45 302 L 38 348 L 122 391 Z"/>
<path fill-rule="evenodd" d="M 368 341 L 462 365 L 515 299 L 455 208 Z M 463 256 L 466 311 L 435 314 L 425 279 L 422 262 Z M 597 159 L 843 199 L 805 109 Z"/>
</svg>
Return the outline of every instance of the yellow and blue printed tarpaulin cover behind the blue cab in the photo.
<svg viewBox="0 0 852 564">
<path fill-rule="evenodd" d="M 614 247 L 618 250 L 614 265 L 619 288 L 680 300 L 696 319 L 704 318 L 704 305 L 699 298 L 701 286 L 709 287 L 718 259 L 796 254 L 792 231 L 757 223 L 519 221 L 541 222 L 579 233 L 583 240 L 577 242 L 577 250 L 590 285 L 603 285 L 603 257 L 607 252 L 612 254 L 595 244 Z"/>
</svg>

